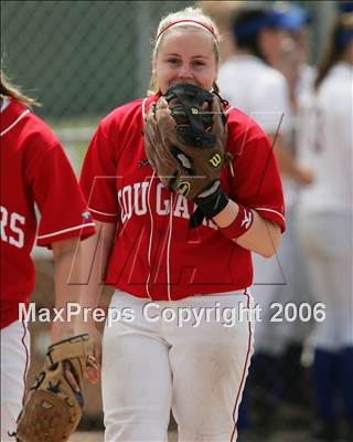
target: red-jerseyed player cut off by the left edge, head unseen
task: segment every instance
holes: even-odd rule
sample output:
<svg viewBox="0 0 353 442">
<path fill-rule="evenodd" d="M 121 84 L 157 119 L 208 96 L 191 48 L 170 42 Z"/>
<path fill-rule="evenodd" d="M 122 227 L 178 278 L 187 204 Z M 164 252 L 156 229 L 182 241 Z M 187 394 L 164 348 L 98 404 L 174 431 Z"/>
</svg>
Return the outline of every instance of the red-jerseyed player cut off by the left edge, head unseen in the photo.
<svg viewBox="0 0 353 442">
<path fill-rule="evenodd" d="M 36 242 L 54 252 L 56 305 L 74 295 L 64 282 L 77 238 L 94 233 L 64 150 L 31 104 L 1 72 L 1 441 L 15 429 L 29 367 L 30 336 L 19 304 L 29 302 L 34 287 L 34 204 L 41 212 Z"/>
</svg>

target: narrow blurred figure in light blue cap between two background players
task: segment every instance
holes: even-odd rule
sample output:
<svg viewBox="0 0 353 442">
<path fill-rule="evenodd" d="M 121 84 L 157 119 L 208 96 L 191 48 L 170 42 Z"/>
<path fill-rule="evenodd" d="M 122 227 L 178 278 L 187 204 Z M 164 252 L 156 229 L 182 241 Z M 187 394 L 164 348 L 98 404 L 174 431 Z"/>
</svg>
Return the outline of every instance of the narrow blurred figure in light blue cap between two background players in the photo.
<svg viewBox="0 0 353 442">
<path fill-rule="evenodd" d="M 291 24 L 288 30 L 288 36 L 284 42 L 284 54 L 278 60 L 278 69 L 286 77 L 289 87 L 289 98 L 292 109 L 293 127 L 291 130 L 291 145 L 293 155 L 298 161 L 298 103 L 300 97 L 310 92 L 313 87 L 315 69 L 308 64 L 311 53 L 310 23 L 311 17 L 308 12 L 298 6 L 286 2 L 278 3 L 278 8 L 284 11 L 287 22 Z M 308 281 L 308 271 L 306 260 L 298 238 L 298 204 L 300 199 L 300 186 L 292 187 L 297 190 L 292 192 L 291 204 L 289 208 L 289 235 L 288 246 L 290 256 L 290 293 L 292 298 L 286 302 L 295 302 L 297 306 L 313 309 L 312 296 L 310 294 L 310 284 Z M 293 190 L 295 190 L 293 189 Z M 290 242 L 290 245 L 289 245 Z M 286 244 L 284 244 L 286 245 Z M 282 295 L 280 295 L 282 296 Z M 288 304 L 290 306 L 291 304 Z M 298 307 L 297 307 L 298 308 Z M 310 393 L 307 387 L 309 382 L 308 367 L 302 364 L 302 351 L 308 336 L 313 327 L 313 320 L 286 322 L 284 332 L 288 337 L 288 343 L 282 356 L 281 369 L 282 399 L 298 407 L 310 401 Z"/>
</svg>

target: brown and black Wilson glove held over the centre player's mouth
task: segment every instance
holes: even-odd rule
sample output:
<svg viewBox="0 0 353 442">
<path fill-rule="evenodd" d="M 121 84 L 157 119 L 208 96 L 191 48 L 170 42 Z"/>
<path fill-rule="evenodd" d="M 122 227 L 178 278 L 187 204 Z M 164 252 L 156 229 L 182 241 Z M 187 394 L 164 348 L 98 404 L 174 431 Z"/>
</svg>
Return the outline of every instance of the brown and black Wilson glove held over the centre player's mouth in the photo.
<svg viewBox="0 0 353 442">
<path fill-rule="evenodd" d="M 227 204 L 220 187 L 226 117 L 218 95 L 192 84 L 175 84 L 152 104 L 145 125 L 148 161 L 162 183 L 197 204 L 191 227 Z"/>
</svg>

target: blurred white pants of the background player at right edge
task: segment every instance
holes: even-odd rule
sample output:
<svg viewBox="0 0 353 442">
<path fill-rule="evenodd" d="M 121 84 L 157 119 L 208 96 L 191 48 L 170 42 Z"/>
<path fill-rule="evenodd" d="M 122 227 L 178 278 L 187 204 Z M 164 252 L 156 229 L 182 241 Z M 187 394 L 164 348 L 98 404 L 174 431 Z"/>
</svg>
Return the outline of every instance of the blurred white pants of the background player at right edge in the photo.
<svg viewBox="0 0 353 442">
<path fill-rule="evenodd" d="M 349 212 L 308 212 L 300 218 L 314 301 L 325 306 L 312 344 L 329 351 L 353 346 L 353 217 Z"/>
</svg>

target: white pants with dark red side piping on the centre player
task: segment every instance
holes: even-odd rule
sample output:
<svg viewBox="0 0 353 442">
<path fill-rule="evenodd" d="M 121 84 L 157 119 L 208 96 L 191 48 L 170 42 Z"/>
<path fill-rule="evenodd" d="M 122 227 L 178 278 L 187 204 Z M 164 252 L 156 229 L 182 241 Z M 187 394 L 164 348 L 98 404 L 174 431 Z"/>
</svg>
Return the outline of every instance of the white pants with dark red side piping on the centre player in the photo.
<svg viewBox="0 0 353 442">
<path fill-rule="evenodd" d="M 181 308 L 252 308 L 250 295 L 232 293 L 150 304 L 116 292 L 110 308 L 130 307 L 131 322 L 106 324 L 103 339 L 105 441 L 167 441 L 172 409 L 183 442 L 236 441 L 236 421 L 253 354 L 254 320 L 229 327 L 215 316 L 178 326 Z M 216 304 L 217 303 L 217 304 Z M 149 305 L 148 312 L 143 306 Z M 156 308 L 154 308 L 156 305 Z M 158 305 L 158 307 L 157 307 Z M 227 311 L 226 311 L 227 308 Z M 175 320 L 160 317 L 174 314 Z M 242 309 L 242 312 L 244 312 Z M 150 318 L 157 318 L 151 322 Z"/>
</svg>

